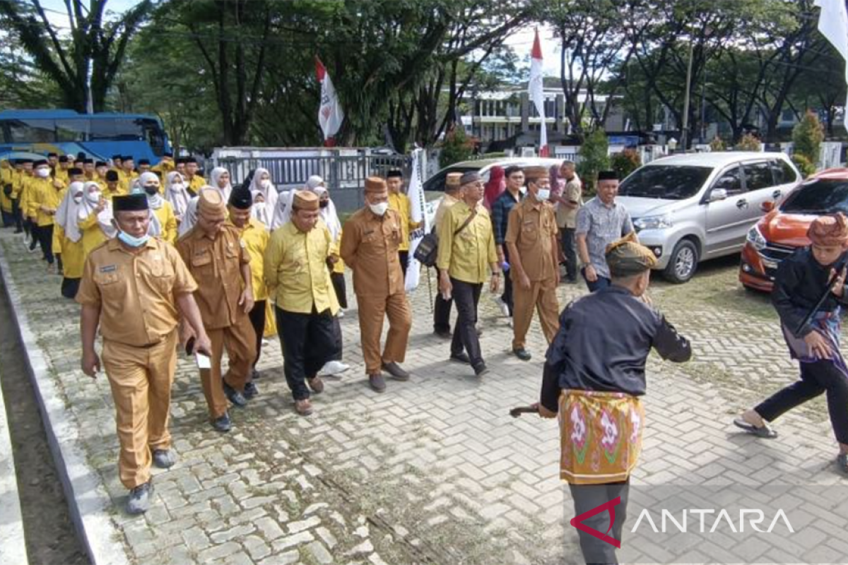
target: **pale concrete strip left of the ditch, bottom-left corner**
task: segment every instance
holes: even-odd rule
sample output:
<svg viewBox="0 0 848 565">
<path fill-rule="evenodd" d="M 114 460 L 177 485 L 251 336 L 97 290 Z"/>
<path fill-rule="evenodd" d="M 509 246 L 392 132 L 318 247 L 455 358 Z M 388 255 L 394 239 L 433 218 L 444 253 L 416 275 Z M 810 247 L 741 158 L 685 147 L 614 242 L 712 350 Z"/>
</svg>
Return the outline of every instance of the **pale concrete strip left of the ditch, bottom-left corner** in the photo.
<svg viewBox="0 0 848 565">
<path fill-rule="evenodd" d="M 6 404 L 0 389 L 0 562 L 28 565 L 24 518 L 20 515 L 18 479 L 14 474 L 12 439 L 8 433 Z"/>
</svg>

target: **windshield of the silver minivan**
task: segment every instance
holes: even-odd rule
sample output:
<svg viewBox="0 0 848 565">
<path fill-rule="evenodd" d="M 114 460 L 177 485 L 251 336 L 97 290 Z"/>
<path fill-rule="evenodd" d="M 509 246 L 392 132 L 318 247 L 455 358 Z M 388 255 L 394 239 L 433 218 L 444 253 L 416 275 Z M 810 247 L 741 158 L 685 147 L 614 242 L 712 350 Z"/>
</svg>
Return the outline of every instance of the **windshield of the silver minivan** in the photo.
<svg viewBox="0 0 848 565">
<path fill-rule="evenodd" d="M 647 165 L 628 176 L 618 188 L 624 197 L 683 200 L 694 197 L 710 176 L 710 167 Z"/>
</svg>

